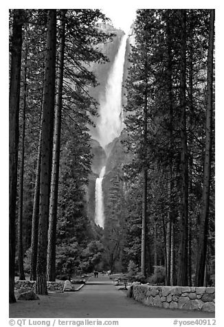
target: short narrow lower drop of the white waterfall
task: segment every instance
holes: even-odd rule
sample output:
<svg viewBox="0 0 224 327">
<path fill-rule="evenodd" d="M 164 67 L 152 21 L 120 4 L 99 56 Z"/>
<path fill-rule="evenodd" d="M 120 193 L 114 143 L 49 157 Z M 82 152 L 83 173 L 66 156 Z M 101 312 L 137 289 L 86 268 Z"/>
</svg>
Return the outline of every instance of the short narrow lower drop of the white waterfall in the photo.
<svg viewBox="0 0 224 327">
<path fill-rule="evenodd" d="M 103 166 L 100 170 L 100 176 L 96 179 L 96 214 L 95 223 L 100 227 L 104 228 L 104 197 L 102 192 L 102 180 L 104 178 L 106 166 Z"/>
</svg>

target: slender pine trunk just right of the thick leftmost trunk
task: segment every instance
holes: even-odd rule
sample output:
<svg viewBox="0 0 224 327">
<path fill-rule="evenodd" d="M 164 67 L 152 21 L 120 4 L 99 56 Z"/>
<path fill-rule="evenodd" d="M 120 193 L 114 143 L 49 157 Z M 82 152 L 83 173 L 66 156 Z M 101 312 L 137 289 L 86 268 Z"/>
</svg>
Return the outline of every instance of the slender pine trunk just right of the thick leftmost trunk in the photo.
<svg viewBox="0 0 224 327">
<path fill-rule="evenodd" d="M 19 215 L 18 215 L 18 265 L 19 279 L 25 280 L 23 269 L 23 174 L 24 174 L 24 146 L 25 146 L 25 111 L 27 95 L 27 48 L 25 49 L 24 63 L 24 89 L 23 89 L 23 115 L 21 133 L 21 165 L 19 169 Z"/>
</svg>

